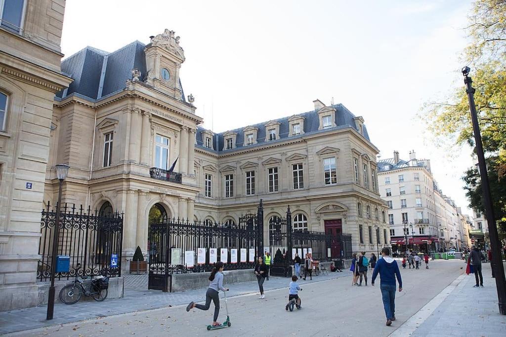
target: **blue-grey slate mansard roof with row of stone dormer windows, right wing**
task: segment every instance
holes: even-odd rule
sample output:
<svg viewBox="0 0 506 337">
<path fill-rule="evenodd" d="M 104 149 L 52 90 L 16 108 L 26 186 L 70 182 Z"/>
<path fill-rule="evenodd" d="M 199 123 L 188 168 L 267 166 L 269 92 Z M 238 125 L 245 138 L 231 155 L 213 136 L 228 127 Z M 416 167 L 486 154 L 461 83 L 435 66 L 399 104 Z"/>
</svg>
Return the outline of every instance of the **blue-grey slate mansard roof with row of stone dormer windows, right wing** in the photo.
<svg viewBox="0 0 506 337">
<path fill-rule="evenodd" d="M 313 110 L 313 111 L 309 111 L 309 112 L 297 115 L 297 116 L 304 117 L 304 134 L 288 137 L 288 133 L 289 133 L 288 119 L 293 116 L 293 115 L 290 115 L 289 117 L 283 117 L 283 118 L 273 120 L 274 122 L 280 123 L 279 135 L 277 135 L 278 139 L 271 140 L 268 142 L 269 143 L 276 143 L 276 142 L 280 142 L 280 141 L 285 141 L 287 138 L 297 139 L 297 138 L 303 137 L 308 134 L 314 134 L 314 133 L 318 133 L 318 132 L 327 132 L 329 129 L 335 130 L 335 129 L 344 129 L 344 128 L 351 127 L 351 128 L 354 128 L 355 130 L 358 131 L 357 126 L 355 125 L 355 120 L 354 120 L 355 115 L 352 114 L 344 105 L 336 104 L 336 105 L 332 105 L 330 107 L 335 109 L 335 124 L 336 124 L 335 127 L 326 128 L 325 130 L 318 130 L 318 127 L 319 127 L 318 112 L 316 110 Z M 222 150 L 223 146 L 224 146 L 224 141 L 225 141 L 223 134 L 226 132 L 229 132 L 229 131 L 215 134 L 215 136 L 213 137 L 213 147 L 214 147 L 214 149 L 217 149 L 217 150 L 212 150 L 212 149 L 206 148 L 203 144 L 202 132 L 205 131 L 205 129 L 198 127 L 197 133 L 196 133 L 196 138 L 197 138 L 196 147 L 205 149 L 207 151 L 215 152 L 215 153 L 229 153 L 229 152 L 238 151 L 243 148 L 255 148 L 255 147 L 263 146 L 263 145 L 265 145 L 265 142 L 266 142 L 265 141 L 265 137 L 266 137 L 265 124 L 267 124 L 268 122 L 270 122 L 270 121 L 266 121 L 266 122 L 258 123 L 258 124 L 254 124 L 254 125 L 248 125 L 248 126 L 258 128 L 258 133 L 257 133 L 257 143 L 255 145 L 249 145 L 246 147 L 243 146 L 243 144 L 244 144 L 244 131 L 243 131 L 243 129 L 247 126 L 237 128 L 234 130 L 229 130 L 229 131 L 237 133 L 236 148 L 232 149 L 232 150 Z M 363 126 L 363 131 L 364 131 L 365 139 L 370 141 L 369 134 L 367 133 L 367 128 L 365 127 L 365 125 Z M 218 147 L 217 147 L 217 145 L 218 145 Z"/>
</svg>

